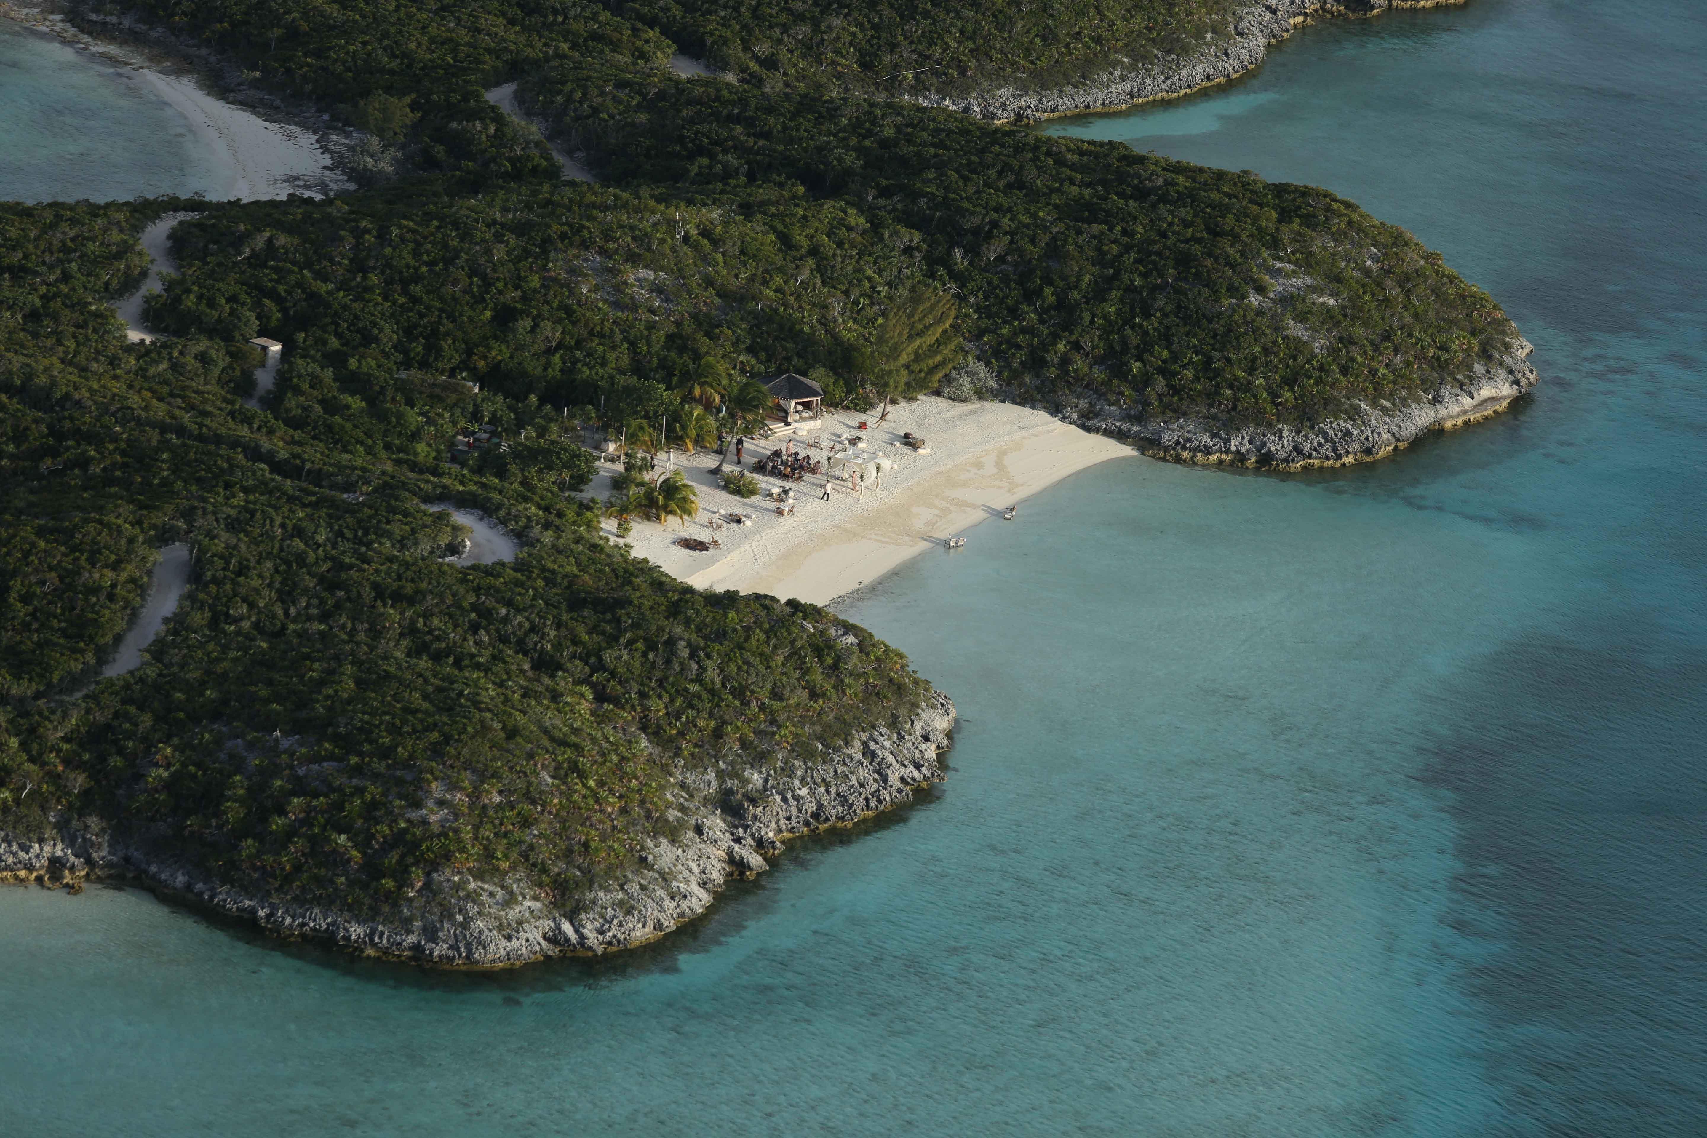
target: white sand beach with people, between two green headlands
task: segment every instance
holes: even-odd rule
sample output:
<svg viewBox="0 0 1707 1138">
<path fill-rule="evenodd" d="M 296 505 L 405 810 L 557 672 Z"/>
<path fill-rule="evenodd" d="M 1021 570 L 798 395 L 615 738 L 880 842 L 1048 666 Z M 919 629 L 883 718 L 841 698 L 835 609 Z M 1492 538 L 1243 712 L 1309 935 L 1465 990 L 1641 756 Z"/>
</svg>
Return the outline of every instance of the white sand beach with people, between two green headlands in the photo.
<svg viewBox="0 0 1707 1138">
<path fill-rule="evenodd" d="M 869 430 L 859 432 L 860 420 Z M 918 553 L 941 549 L 946 537 L 999 517 L 1005 507 L 1022 503 L 1069 474 L 1137 454 L 1113 438 L 1007 403 L 925 396 L 898 404 L 881 425 L 876 420 L 876 411 L 828 413 L 823 428 L 794 437 L 795 449 L 823 457 L 831 440 L 864 435 L 865 447 L 855 454 L 883 461 L 886 469 L 859 495 L 845 479 L 833 479 L 824 502 L 824 479 L 807 478 L 790 483 L 795 507 L 792 515 L 782 517 L 765 495 L 743 500 L 727 493 L 712 476 L 720 456 L 676 452 L 676 466 L 700 495 L 698 519 L 686 525 L 635 520 L 625 541 L 637 556 L 702 589 L 768 592 L 826 604 Z M 905 432 L 923 437 L 930 452 L 915 454 L 898 445 Z M 823 449 L 813 447 L 814 440 Z M 784 442 L 749 442 L 746 469 Z M 613 467 L 606 464 L 604 469 L 587 488 L 599 498 L 611 496 Z M 784 486 L 775 478 L 760 478 L 760 483 L 766 491 Z M 714 529 L 712 519 L 729 512 L 749 514 L 753 520 Z M 1024 517 L 1021 505 L 1016 524 Z M 615 537 L 615 522 L 604 522 L 604 532 Z M 719 546 L 696 553 L 674 544 L 679 537 L 715 539 Z M 976 556 L 976 549 L 973 534 L 964 556 Z"/>
</svg>

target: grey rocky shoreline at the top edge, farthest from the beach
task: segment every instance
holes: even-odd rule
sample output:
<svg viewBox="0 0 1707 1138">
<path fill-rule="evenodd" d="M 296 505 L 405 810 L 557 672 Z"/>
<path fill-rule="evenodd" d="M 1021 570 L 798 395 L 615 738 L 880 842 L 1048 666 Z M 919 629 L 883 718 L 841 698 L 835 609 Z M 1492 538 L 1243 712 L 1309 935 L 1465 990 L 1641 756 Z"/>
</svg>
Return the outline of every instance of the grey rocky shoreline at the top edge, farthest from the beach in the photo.
<svg viewBox="0 0 1707 1138">
<path fill-rule="evenodd" d="M 997 87 L 970 96 L 906 96 L 910 102 L 947 107 L 993 123 L 1028 123 L 1091 111 L 1171 99 L 1202 87 L 1224 84 L 1255 68 L 1268 44 L 1285 39 L 1318 15 L 1379 15 L 1393 9 L 1436 9 L 1466 0 L 1258 0 L 1234 20 L 1231 39 L 1190 58 L 1162 58 L 1152 65 L 1120 65 L 1096 78 L 1057 90 Z"/>
</svg>

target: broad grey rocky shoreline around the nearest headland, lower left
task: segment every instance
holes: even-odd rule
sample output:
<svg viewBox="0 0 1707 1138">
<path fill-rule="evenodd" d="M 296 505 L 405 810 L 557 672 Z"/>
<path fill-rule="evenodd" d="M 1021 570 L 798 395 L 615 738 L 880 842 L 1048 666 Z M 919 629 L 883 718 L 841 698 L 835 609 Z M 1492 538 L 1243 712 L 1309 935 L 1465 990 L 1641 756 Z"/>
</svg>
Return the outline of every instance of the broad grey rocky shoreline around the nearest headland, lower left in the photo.
<svg viewBox="0 0 1707 1138">
<path fill-rule="evenodd" d="M 246 896 L 195 867 L 147 853 L 99 822 L 43 841 L 0 834 L 0 882 L 72 887 L 87 879 L 138 880 L 157 892 L 254 921 L 278 937 L 335 943 L 362 955 L 440 967 L 505 967 L 555 955 L 597 955 L 657 940 L 710 908 L 731 877 L 768 868 L 792 836 L 847 826 L 901 805 L 946 775 L 954 705 L 932 693 L 900 730 L 879 727 L 813 763 L 746 771 L 734 781 L 685 780 L 683 836 L 655 841 L 621 885 L 574 911 L 539 899 L 526 880 L 435 874 L 408 906 L 382 916 Z"/>
</svg>

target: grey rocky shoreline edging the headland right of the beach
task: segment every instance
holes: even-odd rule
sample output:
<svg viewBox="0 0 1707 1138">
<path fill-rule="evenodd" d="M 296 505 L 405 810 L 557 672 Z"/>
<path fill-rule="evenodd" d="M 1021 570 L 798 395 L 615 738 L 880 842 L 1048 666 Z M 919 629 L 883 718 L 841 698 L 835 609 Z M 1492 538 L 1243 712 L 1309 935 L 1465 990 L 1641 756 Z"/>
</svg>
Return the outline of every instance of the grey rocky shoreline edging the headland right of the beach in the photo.
<svg viewBox="0 0 1707 1138">
<path fill-rule="evenodd" d="M 1314 427 L 1229 427 L 1190 416 L 1145 420 L 1135 408 L 1091 398 L 1045 409 L 1074 427 L 1128 438 L 1152 459 L 1275 471 L 1350 466 L 1383 459 L 1429 432 L 1468 427 L 1507 409 L 1540 382 L 1528 360 L 1531 351 L 1529 341 L 1518 338 L 1507 353 L 1478 360 L 1468 375 L 1441 380 L 1427 398 L 1403 404 L 1359 403 L 1345 418 Z"/>
</svg>

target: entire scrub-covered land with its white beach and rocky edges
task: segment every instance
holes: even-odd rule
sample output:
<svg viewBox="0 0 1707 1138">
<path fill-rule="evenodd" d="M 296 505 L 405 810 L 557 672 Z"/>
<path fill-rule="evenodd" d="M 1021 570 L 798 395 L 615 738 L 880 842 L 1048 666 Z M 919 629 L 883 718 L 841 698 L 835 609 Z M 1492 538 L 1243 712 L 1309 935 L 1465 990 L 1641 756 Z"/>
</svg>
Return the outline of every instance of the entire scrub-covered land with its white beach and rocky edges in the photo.
<svg viewBox="0 0 1707 1138">
<path fill-rule="evenodd" d="M 821 607 L 925 537 L 1127 444 L 1354 462 L 1535 384 L 1328 191 L 985 121 L 1314 7 L 1067 7 L 56 12 L 353 188 L 0 205 L 0 875 L 446 966 L 640 943 L 944 776 L 949 700 Z M 831 457 L 784 372 L 893 462 L 678 544 L 753 490 L 719 437 Z"/>
</svg>

